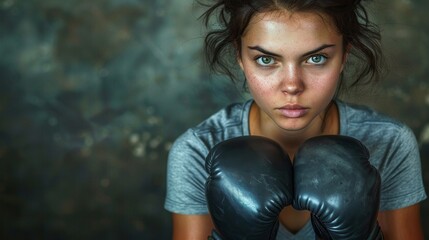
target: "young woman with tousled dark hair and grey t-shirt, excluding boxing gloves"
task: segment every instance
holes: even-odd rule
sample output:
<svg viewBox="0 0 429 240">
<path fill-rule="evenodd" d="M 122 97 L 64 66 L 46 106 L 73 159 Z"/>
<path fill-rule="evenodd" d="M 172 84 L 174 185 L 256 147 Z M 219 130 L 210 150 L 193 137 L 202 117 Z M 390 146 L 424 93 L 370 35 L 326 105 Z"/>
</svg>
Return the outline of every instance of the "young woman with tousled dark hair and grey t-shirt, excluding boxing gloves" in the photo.
<svg viewBox="0 0 429 240">
<path fill-rule="evenodd" d="M 275 140 L 291 159 L 318 135 L 360 140 L 381 176 L 384 238 L 423 239 L 419 202 L 426 193 L 414 135 L 398 121 L 337 98 L 348 83 L 376 80 L 381 69 L 379 33 L 361 1 L 218 0 L 206 23 L 216 14 L 220 28 L 206 37 L 209 63 L 233 80 L 231 63 L 237 64 L 253 99 L 215 113 L 173 145 L 165 208 L 173 215 L 174 239 L 210 235 L 205 157 L 216 144 L 245 135 Z M 348 66 L 350 57 L 360 60 L 359 68 Z M 343 74 L 349 67 L 355 72 Z M 277 239 L 314 239 L 308 211 L 287 206 L 279 219 Z"/>
</svg>

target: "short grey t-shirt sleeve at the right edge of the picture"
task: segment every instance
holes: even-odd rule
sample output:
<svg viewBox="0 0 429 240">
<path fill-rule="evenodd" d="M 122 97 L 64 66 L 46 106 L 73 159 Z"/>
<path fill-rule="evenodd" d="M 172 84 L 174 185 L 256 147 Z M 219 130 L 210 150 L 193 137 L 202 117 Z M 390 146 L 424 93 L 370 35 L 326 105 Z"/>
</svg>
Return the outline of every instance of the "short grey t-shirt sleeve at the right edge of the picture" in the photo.
<svg viewBox="0 0 429 240">
<path fill-rule="evenodd" d="M 419 148 L 416 138 L 402 126 L 390 144 L 389 154 L 381 172 L 380 210 L 411 206 L 426 198 Z"/>
</svg>

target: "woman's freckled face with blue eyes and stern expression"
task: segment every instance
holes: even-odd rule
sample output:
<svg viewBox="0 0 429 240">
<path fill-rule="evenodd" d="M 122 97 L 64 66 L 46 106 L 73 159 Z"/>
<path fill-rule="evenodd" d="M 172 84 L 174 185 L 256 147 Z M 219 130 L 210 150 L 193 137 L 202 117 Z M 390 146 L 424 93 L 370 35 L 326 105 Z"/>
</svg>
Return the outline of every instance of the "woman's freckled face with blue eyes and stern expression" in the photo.
<svg viewBox="0 0 429 240">
<path fill-rule="evenodd" d="M 262 119 L 290 131 L 320 124 L 346 56 L 330 18 L 286 10 L 259 13 L 241 46 L 238 62 L 255 102 L 269 117 Z"/>
</svg>

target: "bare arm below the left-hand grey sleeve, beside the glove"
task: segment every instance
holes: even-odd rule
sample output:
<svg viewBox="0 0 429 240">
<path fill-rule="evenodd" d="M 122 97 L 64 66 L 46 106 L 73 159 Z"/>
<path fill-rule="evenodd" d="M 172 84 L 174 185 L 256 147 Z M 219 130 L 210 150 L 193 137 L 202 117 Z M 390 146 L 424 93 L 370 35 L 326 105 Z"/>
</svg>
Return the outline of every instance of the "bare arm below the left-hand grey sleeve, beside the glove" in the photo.
<svg viewBox="0 0 429 240">
<path fill-rule="evenodd" d="M 173 213 L 174 240 L 202 240 L 210 236 L 214 226 L 210 215 L 183 215 Z"/>
</svg>

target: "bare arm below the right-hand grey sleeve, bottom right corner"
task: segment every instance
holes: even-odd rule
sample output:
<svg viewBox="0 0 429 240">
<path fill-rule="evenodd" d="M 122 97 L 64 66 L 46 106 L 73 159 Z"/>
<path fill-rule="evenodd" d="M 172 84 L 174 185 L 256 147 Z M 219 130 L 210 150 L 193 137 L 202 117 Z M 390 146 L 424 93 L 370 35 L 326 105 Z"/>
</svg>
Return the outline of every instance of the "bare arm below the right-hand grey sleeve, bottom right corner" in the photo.
<svg viewBox="0 0 429 240">
<path fill-rule="evenodd" d="M 378 223 L 385 240 L 423 240 L 420 224 L 420 205 L 383 211 L 378 214 Z"/>
</svg>

